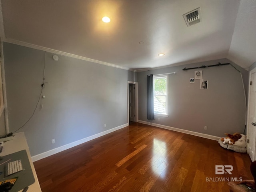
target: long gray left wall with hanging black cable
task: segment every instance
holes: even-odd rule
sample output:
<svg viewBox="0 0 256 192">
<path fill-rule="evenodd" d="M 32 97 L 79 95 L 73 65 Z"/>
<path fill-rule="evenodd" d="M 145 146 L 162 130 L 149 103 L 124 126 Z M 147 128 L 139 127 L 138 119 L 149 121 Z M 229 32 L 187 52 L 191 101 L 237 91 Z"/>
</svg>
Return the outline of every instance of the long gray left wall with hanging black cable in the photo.
<svg viewBox="0 0 256 192">
<path fill-rule="evenodd" d="M 66 56 L 54 61 L 52 55 L 4 43 L 11 132 L 36 107 L 45 57 L 46 98 L 40 99 L 34 117 L 19 130 L 25 132 L 32 156 L 127 123 L 127 81 L 134 80 L 134 72 Z"/>
</svg>

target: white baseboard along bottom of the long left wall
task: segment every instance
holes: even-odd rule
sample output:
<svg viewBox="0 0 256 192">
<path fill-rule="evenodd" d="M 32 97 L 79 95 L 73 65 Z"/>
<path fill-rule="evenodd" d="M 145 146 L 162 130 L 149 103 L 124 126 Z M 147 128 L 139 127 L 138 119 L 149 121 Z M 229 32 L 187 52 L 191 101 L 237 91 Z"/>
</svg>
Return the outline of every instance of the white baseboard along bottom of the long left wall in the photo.
<svg viewBox="0 0 256 192">
<path fill-rule="evenodd" d="M 75 142 L 72 142 L 72 143 L 69 143 L 69 144 L 66 144 L 66 145 L 63 145 L 63 146 L 60 146 L 58 148 L 55 148 L 55 149 L 52 149 L 52 150 L 49 150 L 49 151 L 46 151 L 46 152 L 43 152 L 41 154 L 38 154 L 38 155 L 35 155 L 35 156 L 32 156 L 32 161 L 35 162 L 35 161 L 38 161 L 40 159 L 43 159 L 43 158 L 46 158 L 48 156 L 51 156 L 51 155 L 54 155 L 58 152 L 62 152 L 64 150 L 67 150 L 69 148 L 72 148 L 74 146 L 77 146 L 77 145 L 80 145 L 82 143 L 85 143 L 85 142 L 88 142 L 90 140 L 93 140 L 93 139 L 96 139 L 98 137 L 101 137 L 101 136 L 104 136 L 106 134 L 109 134 L 111 132 L 114 132 L 116 130 L 119 130 L 119 129 L 122 129 L 122 128 L 125 128 L 128 126 L 128 123 L 126 124 L 123 124 L 121 126 L 118 126 L 118 127 L 115 127 L 115 128 L 112 128 L 110 130 L 106 130 L 104 132 L 100 132 L 100 133 L 97 133 L 95 135 L 92 135 L 92 136 L 89 136 L 89 137 L 86 137 L 86 138 L 83 138 L 81 140 L 78 140 L 78 141 L 75 141 Z"/>
</svg>

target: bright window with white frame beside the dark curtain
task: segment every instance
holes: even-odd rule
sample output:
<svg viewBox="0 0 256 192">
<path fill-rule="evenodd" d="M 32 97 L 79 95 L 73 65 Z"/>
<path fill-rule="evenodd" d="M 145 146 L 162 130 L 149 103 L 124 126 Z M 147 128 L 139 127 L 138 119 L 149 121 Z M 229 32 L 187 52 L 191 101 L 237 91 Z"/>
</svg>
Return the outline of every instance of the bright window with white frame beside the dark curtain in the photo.
<svg viewBox="0 0 256 192">
<path fill-rule="evenodd" d="M 168 116 L 168 75 L 154 76 L 154 114 Z"/>
</svg>

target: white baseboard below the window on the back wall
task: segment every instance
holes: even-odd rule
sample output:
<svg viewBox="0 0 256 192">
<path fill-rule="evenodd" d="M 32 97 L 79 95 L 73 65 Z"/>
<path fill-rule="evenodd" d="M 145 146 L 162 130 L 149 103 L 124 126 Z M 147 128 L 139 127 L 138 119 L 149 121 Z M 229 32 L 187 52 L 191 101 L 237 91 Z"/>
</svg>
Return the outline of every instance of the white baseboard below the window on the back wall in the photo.
<svg viewBox="0 0 256 192">
<path fill-rule="evenodd" d="M 194 131 L 188 131 L 188 130 L 184 130 L 184 129 L 169 127 L 169 126 L 160 125 L 160 124 L 156 124 L 156 123 L 151 123 L 151 122 L 146 122 L 146 121 L 141 121 L 141 120 L 138 120 L 138 122 L 143 123 L 143 124 L 147 124 L 147 125 L 152 125 L 152 126 L 155 126 L 155 127 L 160 127 L 160 128 L 172 130 L 172 131 L 177 131 L 177 132 L 186 133 L 186 134 L 190 134 L 190 135 L 194 135 L 194 136 L 198 136 L 198 137 L 203 137 L 203 138 L 207 138 L 207 139 L 211 139 L 211 140 L 218 141 L 220 139 L 220 137 L 217 137 L 217 136 L 212 136 L 212 135 L 207 135 L 207 134 L 198 133 L 198 132 L 194 132 Z"/>
</svg>

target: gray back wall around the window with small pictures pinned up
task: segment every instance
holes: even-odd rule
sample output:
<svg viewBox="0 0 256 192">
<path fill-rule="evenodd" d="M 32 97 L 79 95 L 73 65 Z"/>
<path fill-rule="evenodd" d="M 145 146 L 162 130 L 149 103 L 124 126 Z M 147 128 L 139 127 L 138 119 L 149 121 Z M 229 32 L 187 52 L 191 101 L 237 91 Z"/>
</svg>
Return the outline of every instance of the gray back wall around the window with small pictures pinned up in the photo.
<svg viewBox="0 0 256 192">
<path fill-rule="evenodd" d="M 220 137 L 225 132 L 243 133 L 246 106 L 240 73 L 231 65 L 198 69 L 203 70 L 203 78 L 208 80 L 208 89 L 201 90 L 200 80 L 195 80 L 194 84 L 189 82 L 195 70 L 182 70 L 218 62 L 230 63 L 220 59 L 138 72 L 139 120 Z M 244 84 L 248 87 L 248 72 L 234 66 L 242 71 Z M 177 72 L 169 75 L 169 117 L 155 116 L 155 120 L 149 121 L 146 118 L 146 76 L 169 72 Z M 204 130 L 204 126 L 208 126 L 208 130 Z"/>
</svg>

